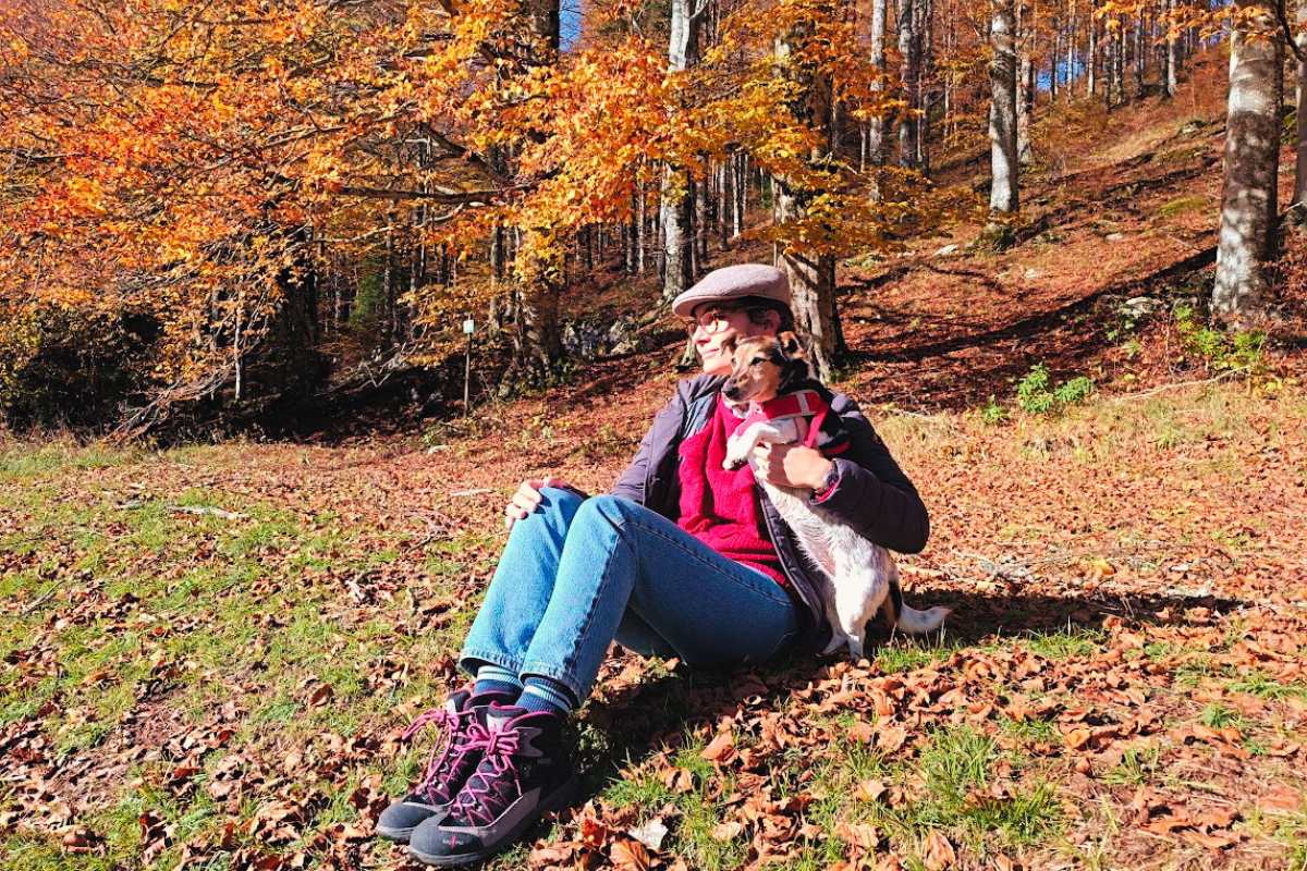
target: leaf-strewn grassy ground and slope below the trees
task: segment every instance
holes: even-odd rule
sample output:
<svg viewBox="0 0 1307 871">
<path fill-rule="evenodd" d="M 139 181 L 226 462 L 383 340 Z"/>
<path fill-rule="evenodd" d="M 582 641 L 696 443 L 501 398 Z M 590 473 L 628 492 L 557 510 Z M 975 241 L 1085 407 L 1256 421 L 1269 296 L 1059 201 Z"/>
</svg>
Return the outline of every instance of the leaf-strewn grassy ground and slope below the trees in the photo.
<svg viewBox="0 0 1307 871">
<path fill-rule="evenodd" d="M 1042 157 L 1009 251 L 842 269 L 839 385 L 931 508 L 899 564 L 946 632 L 729 675 L 617 652 L 587 803 L 491 867 L 1307 867 L 1302 350 L 1175 313 L 1219 187 L 1191 90 L 1084 110 L 1094 158 Z M 372 821 L 507 494 L 606 488 L 677 350 L 421 437 L 0 443 L 0 866 L 404 866 Z M 1093 390 L 1022 410 L 1039 362 Z"/>
</svg>

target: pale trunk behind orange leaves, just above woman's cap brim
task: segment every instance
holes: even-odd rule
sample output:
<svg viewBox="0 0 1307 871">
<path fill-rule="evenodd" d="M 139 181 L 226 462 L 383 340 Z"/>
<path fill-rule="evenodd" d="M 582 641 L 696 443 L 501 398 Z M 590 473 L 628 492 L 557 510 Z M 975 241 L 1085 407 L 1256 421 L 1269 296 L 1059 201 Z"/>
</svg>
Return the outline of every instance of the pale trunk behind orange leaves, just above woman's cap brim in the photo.
<svg viewBox="0 0 1307 871">
<path fill-rule="evenodd" d="M 693 67 L 698 57 L 698 18 L 693 17 L 691 0 L 672 0 L 670 37 L 667 65 L 669 72 Z M 694 204 L 690 200 L 690 178 L 684 167 L 665 166 L 660 191 L 663 223 L 663 299 L 670 300 L 694 283 L 694 236 L 691 230 Z"/>
</svg>

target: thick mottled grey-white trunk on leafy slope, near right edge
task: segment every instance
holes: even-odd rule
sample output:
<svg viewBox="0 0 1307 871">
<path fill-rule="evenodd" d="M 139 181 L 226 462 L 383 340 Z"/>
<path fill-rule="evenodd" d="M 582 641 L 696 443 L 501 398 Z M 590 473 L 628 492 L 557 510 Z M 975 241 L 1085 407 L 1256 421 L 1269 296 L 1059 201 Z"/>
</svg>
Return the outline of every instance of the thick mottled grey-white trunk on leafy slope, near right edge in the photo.
<svg viewBox="0 0 1307 871">
<path fill-rule="evenodd" d="M 1212 289 L 1212 311 L 1233 323 L 1264 311 L 1263 262 L 1274 243 L 1280 168 L 1281 37 L 1268 4 L 1246 8 L 1253 12 L 1251 21 L 1230 38 L 1225 185 Z"/>
</svg>

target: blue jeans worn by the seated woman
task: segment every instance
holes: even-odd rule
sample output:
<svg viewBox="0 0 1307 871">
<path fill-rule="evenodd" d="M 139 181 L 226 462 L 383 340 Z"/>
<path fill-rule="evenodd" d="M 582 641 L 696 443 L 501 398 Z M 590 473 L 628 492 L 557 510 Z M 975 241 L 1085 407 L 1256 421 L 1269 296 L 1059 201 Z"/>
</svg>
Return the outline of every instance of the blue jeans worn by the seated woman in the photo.
<svg viewBox="0 0 1307 871">
<path fill-rule="evenodd" d="M 799 635 L 789 595 L 661 515 L 546 487 L 512 526 L 459 663 L 541 675 L 584 700 L 610 641 L 690 666 L 761 662 Z"/>
</svg>

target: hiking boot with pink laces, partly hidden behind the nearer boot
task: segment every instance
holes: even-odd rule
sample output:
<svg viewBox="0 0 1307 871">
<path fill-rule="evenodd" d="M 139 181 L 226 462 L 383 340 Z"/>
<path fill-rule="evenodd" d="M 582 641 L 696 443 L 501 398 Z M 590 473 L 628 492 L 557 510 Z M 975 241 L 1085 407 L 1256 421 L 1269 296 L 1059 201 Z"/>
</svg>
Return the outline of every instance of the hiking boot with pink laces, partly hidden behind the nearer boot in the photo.
<svg viewBox="0 0 1307 871">
<path fill-rule="evenodd" d="M 489 692 L 474 696 L 471 688 L 459 689 L 443 706 L 420 714 L 404 730 L 405 739 L 426 726 L 440 727 L 443 735 L 431 750 L 422 780 L 413 791 L 382 811 L 376 820 L 379 836 L 404 844 L 420 823 L 450 810 L 464 781 L 481 761 L 481 742 L 489 734 L 485 714 L 495 699 L 502 701 L 503 696 Z"/>
</svg>

